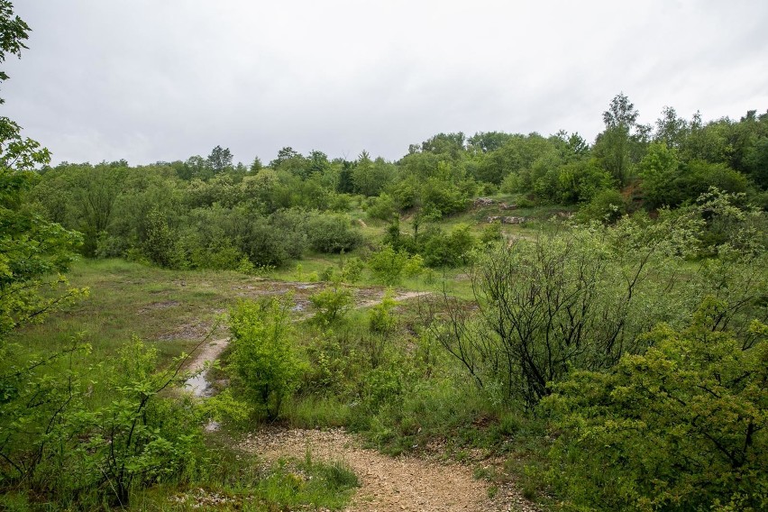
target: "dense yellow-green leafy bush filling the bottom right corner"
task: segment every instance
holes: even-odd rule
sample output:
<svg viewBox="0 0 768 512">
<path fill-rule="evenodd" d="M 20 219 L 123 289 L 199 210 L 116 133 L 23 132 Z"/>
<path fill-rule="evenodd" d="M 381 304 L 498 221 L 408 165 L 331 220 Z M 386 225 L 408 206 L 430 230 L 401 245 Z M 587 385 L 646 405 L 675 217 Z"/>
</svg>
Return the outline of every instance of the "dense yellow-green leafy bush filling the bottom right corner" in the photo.
<svg viewBox="0 0 768 512">
<path fill-rule="evenodd" d="M 743 350 L 694 324 L 659 325 L 652 348 L 607 372 L 577 371 L 544 402 L 559 432 L 549 473 L 572 510 L 763 510 L 768 506 L 768 329 Z"/>
</svg>

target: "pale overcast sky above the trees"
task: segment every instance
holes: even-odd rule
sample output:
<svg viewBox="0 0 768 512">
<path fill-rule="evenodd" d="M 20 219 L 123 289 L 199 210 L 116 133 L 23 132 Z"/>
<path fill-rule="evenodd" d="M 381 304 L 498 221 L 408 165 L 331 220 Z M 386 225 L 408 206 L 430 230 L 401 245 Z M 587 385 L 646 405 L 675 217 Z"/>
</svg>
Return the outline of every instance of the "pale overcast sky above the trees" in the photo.
<svg viewBox="0 0 768 512">
<path fill-rule="evenodd" d="M 436 133 L 588 141 L 623 92 L 654 123 L 768 110 L 765 0 L 14 0 L 0 115 L 52 163 L 290 146 L 398 160 Z"/>
</svg>

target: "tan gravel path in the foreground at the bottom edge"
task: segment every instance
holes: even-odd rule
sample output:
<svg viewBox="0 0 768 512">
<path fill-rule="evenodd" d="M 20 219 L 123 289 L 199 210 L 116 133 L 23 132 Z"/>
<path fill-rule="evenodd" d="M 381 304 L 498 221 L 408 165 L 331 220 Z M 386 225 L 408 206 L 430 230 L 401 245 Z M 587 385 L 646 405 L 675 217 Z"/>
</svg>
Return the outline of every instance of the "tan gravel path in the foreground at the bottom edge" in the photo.
<svg viewBox="0 0 768 512">
<path fill-rule="evenodd" d="M 268 461 L 303 459 L 309 451 L 315 461 L 346 462 L 361 487 L 345 512 L 537 511 L 511 485 L 490 492 L 489 483 L 475 480 L 469 466 L 389 457 L 362 448 L 356 436 L 341 429 L 264 429 L 248 434 L 241 448 Z"/>
</svg>

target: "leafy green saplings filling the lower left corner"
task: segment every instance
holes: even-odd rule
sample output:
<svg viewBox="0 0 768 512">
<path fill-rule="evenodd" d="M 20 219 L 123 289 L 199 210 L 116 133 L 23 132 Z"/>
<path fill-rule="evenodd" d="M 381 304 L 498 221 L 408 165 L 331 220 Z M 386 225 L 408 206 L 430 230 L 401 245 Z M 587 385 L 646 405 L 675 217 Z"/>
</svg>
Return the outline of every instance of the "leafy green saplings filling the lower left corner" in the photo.
<svg viewBox="0 0 768 512">
<path fill-rule="evenodd" d="M 92 367 L 78 364 L 88 352 L 75 344 L 2 376 L 0 486 L 125 506 L 133 489 L 177 481 L 194 467 L 198 418 L 183 398 L 160 395 L 183 381 L 180 361 L 156 370 L 157 350 L 139 340 Z M 107 390 L 105 402 L 95 386 Z"/>
</svg>

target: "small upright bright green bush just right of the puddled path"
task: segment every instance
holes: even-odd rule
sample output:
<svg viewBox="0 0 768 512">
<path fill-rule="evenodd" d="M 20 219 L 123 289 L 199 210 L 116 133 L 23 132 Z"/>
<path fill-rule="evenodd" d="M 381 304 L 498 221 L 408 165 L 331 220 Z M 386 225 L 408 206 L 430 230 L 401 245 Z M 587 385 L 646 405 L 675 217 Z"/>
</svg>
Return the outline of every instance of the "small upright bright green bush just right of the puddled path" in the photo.
<svg viewBox="0 0 768 512">
<path fill-rule="evenodd" d="M 242 301 L 230 312 L 230 365 L 251 404 L 270 419 L 296 389 L 301 365 L 293 347 L 288 301 Z"/>
</svg>

